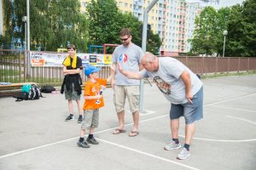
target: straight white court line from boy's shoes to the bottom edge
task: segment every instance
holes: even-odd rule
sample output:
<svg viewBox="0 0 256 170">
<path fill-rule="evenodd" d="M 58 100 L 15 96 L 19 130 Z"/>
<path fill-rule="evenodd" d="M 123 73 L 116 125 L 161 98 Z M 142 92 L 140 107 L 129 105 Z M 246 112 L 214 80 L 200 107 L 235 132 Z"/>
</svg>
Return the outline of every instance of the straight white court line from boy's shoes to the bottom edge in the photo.
<svg viewBox="0 0 256 170">
<path fill-rule="evenodd" d="M 98 138 L 97 138 L 97 139 L 98 139 Z M 189 168 L 189 169 L 194 169 L 194 170 L 197 169 L 197 170 L 199 170 L 198 168 L 190 167 L 190 166 L 184 165 L 184 164 L 182 164 L 182 163 L 179 163 L 179 162 L 177 162 L 177 161 L 171 161 L 171 160 L 168 160 L 168 159 L 163 158 L 163 157 L 160 157 L 160 156 L 154 156 L 154 155 L 152 155 L 152 154 L 148 154 L 147 152 L 143 152 L 143 151 L 141 151 L 141 150 L 135 150 L 135 149 L 129 148 L 129 147 L 124 146 L 124 145 L 120 145 L 120 144 L 115 144 L 115 143 L 113 143 L 113 142 L 109 142 L 108 140 L 104 140 L 104 139 L 98 139 L 98 140 L 100 140 L 100 141 L 102 141 L 102 142 L 105 142 L 105 143 L 107 143 L 107 144 L 112 144 L 112 145 L 118 146 L 119 148 L 124 148 L 125 150 L 131 150 L 131 151 L 137 152 L 137 153 L 142 154 L 142 155 L 145 155 L 145 156 L 154 157 L 154 158 L 159 159 L 159 160 L 161 160 L 161 161 L 167 161 L 167 162 L 176 164 L 176 165 L 181 166 L 181 167 L 187 167 L 187 168 Z"/>
</svg>

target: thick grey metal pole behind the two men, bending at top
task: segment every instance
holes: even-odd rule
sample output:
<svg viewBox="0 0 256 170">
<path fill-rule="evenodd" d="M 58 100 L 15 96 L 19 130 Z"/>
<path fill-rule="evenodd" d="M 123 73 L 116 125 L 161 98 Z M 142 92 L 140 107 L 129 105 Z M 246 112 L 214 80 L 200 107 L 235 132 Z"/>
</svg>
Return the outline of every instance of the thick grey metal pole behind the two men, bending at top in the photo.
<svg viewBox="0 0 256 170">
<path fill-rule="evenodd" d="M 142 48 L 143 48 L 143 53 L 146 53 L 146 42 L 147 42 L 147 29 L 148 29 L 148 12 L 150 11 L 151 8 L 154 7 L 154 4 L 157 3 L 158 0 L 153 0 L 147 8 L 144 9 L 143 11 L 143 42 L 142 42 Z M 139 101 L 139 111 L 143 112 L 143 86 L 144 82 L 143 80 L 140 81 L 140 101 Z"/>
</svg>

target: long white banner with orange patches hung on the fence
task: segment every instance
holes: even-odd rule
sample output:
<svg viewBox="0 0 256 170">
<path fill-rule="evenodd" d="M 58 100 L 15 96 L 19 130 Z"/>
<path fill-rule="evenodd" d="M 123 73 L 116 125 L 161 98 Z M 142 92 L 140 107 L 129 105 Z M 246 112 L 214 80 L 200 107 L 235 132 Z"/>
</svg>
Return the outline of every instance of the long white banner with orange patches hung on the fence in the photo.
<svg viewBox="0 0 256 170">
<path fill-rule="evenodd" d="M 62 62 L 68 54 L 44 53 L 31 51 L 30 63 L 32 66 L 63 66 Z M 82 65 L 108 66 L 111 65 L 111 54 L 77 54 L 82 59 Z"/>
</svg>

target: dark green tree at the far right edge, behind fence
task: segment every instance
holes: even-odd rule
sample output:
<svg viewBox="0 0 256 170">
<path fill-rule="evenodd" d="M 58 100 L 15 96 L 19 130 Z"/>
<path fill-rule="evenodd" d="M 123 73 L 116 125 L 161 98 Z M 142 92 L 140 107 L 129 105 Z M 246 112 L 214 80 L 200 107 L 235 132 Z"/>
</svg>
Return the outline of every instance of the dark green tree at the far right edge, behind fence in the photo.
<svg viewBox="0 0 256 170">
<path fill-rule="evenodd" d="M 256 2 L 247 0 L 242 6 L 232 7 L 229 22 L 228 47 L 225 54 L 229 56 L 256 56 Z"/>
</svg>

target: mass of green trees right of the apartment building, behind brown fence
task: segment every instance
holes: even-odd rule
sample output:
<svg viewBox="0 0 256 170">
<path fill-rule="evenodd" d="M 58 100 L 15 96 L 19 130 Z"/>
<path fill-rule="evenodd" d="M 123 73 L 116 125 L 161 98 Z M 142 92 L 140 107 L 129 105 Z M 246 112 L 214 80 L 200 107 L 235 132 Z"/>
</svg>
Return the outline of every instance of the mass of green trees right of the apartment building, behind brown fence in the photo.
<svg viewBox="0 0 256 170">
<path fill-rule="evenodd" d="M 256 1 L 246 0 L 243 5 L 215 10 L 207 7 L 195 19 L 191 52 L 222 56 L 223 31 L 227 30 L 225 56 L 256 56 Z"/>
</svg>

